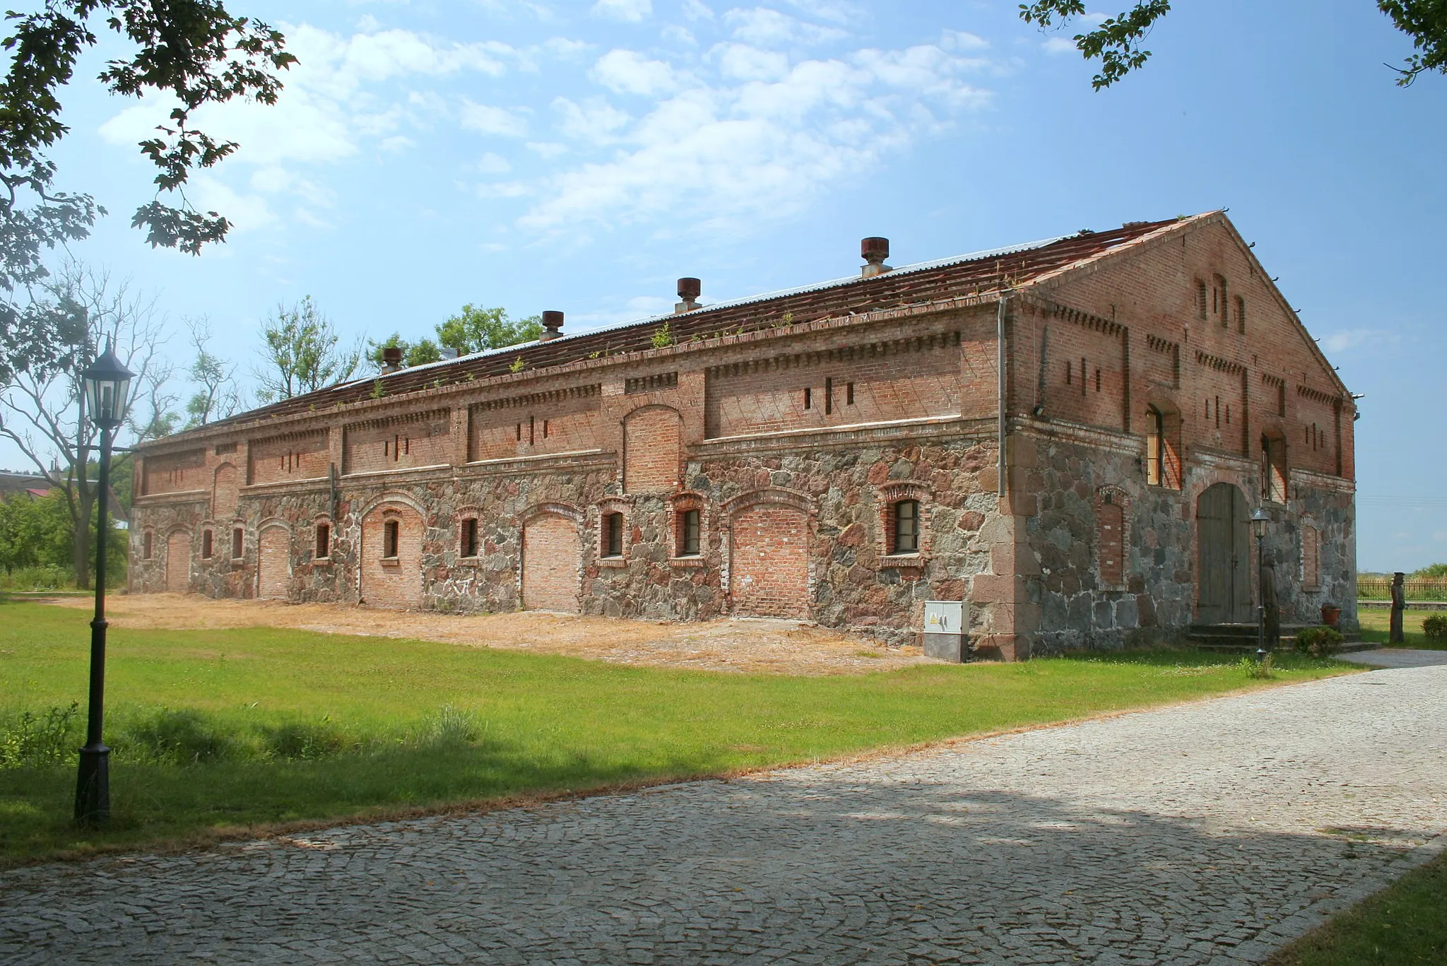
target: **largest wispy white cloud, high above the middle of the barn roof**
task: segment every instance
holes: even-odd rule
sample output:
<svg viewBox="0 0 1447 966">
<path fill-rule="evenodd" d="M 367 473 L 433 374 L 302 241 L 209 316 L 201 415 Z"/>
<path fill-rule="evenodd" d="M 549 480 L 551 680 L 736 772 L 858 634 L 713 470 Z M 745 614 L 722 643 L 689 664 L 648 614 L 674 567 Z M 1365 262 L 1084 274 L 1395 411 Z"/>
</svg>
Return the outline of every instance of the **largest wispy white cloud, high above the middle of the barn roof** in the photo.
<svg viewBox="0 0 1447 966">
<path fill-rule="evenodd" d="M 750 229 L 831 185 L 858 184 L 887 154 L 990 98 L 967 80 L 985 62 L 935 43 L 796 62 L 734 43 L 710 51 L 705 65 L 716 72 L 671 71 L 676 91 L 603 130 L 583 107 L 554 101 L 560 129 L 593 136 L 608 154 L 540 178 L 519 224 L 546 233 L 657 222 L 673 230 L 686 213 L 690 230 Z M 602 101 L 589 109 L 609 117 Z"/>
</svg>

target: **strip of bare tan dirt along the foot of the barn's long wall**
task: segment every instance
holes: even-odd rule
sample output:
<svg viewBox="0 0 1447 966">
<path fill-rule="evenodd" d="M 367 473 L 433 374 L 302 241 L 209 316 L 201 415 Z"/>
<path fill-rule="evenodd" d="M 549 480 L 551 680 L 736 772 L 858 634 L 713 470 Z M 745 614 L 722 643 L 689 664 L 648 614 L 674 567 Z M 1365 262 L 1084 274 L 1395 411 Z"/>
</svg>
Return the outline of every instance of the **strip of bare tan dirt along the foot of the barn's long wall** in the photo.
<svg viewBox="0 0 1447 966">
<path fill-rule="evenodd" d="M 88 608 L 84 598 L 55 598 L 56 607 Z M 211 630 L 289 627 L 324 634 L 412 637 L 467 647 L 502 647 L 590 660 L 700 671 L 790 675 L 871 673 L 922 663 L 919 647 L 883 647 L 858 634 L 790 620 L 673 623 L 572 614 L 437 614 L 346 604 L 210 600 L 194 594 L 107 598 L 114 627 Z"/>
</svg>

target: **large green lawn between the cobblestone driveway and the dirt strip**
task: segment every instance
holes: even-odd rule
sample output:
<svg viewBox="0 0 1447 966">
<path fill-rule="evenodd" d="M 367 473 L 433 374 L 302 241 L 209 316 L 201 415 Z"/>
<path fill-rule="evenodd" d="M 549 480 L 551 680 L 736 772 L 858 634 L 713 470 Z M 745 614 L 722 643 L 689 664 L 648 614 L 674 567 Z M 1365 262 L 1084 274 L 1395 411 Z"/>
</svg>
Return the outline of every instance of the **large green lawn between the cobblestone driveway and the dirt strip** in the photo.
<svg viewBox="0 0 1447 966">
<path fill-rule="evenodd" d="M 93 833 L 68 820 L 87 617 L 0 604 L 0 863 L 721 775 L 1270 684 L 1197 652 L 806 678 L 294 630 L 111 629 L 113 821 Z M 1276 682 L 1351 669 L 1281 662 Z M 74 718 L 54 720 L 77 700 Z"/>
</svg>

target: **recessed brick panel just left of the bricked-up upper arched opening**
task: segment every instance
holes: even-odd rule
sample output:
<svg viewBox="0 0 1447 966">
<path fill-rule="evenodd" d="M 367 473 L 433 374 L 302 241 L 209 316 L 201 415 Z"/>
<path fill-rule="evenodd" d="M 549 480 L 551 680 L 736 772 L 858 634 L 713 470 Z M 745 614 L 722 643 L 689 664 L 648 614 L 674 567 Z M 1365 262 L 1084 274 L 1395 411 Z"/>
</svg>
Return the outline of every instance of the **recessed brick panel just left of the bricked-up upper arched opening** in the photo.
<svg viewBox="0 0 1447 966">
<path fill-rule="evenodd" d="M 467 410 L 467 461 L 598 448 L 598 385 L 479 403 Z"/>
</svg>

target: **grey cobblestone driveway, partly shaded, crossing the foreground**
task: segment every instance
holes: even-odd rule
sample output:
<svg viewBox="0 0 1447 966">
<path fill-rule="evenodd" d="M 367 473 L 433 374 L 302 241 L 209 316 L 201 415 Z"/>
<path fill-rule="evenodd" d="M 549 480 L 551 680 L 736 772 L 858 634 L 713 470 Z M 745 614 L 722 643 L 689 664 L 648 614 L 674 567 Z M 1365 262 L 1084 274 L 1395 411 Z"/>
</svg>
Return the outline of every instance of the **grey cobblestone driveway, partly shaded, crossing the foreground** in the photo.
<svg viewBox="0 0 1447 966">
<path fill-rule="evenodd" d="M 0 875 L 6 963 L 1239 963 L 1447 828 L 1447 668 Z"/>
</svg>

